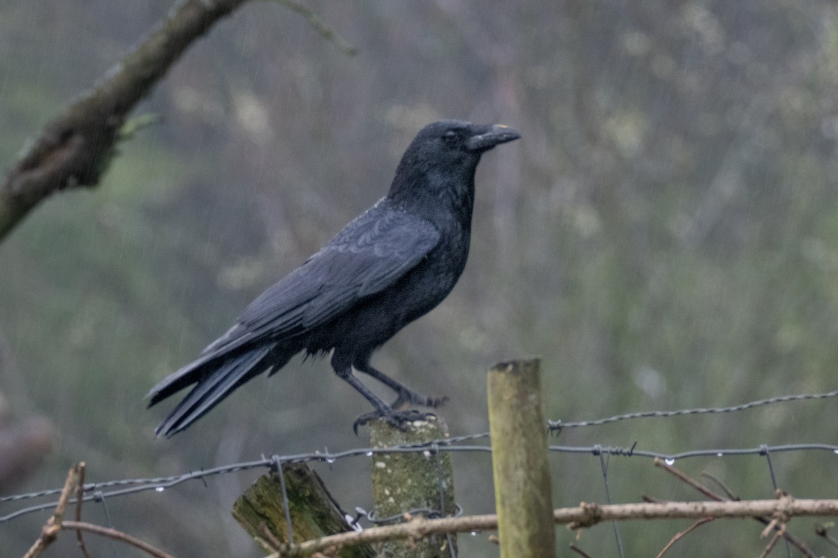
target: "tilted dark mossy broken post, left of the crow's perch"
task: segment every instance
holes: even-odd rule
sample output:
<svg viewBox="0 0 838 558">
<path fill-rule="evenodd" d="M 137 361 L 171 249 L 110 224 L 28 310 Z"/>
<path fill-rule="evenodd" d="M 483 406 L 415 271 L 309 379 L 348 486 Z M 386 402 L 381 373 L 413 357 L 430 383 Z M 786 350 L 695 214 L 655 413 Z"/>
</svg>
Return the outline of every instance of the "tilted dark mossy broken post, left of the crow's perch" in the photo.
<svg viewBox="0 0 838 558">
<path fill-rule="evenodd" d="M 351 530 L 317 473 L 303 463 L 282 465 L 282 471 L 295 543 Z M 276 471 L 256 479 L 256 483 L 235 500 L 232 513 L 239 525 L 265 550 L 271 552 L 276 550 L 277 544 L 290 542 L 282 481 Z M 337 555 L 371 558 L 374 553 L 370 545 L 354 545 L 344 546 Z"/>
</svg>

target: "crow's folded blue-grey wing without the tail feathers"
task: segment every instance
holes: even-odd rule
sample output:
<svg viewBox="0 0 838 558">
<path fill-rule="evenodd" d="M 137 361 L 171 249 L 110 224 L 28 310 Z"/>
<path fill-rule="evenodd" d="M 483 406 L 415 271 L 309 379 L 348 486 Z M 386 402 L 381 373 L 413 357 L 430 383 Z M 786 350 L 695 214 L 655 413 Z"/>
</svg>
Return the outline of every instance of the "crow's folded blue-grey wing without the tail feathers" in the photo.
<svg viewBox="0 0 838 558">
<path fill-rule="evenodd" d="M 394 284 L 439 239 L 437 228 L 422 218 L 396 211 L 366 212 L 255 299 L 204 355 L 265 336 L 297 335 L 323 324 Z"/>
</svg>

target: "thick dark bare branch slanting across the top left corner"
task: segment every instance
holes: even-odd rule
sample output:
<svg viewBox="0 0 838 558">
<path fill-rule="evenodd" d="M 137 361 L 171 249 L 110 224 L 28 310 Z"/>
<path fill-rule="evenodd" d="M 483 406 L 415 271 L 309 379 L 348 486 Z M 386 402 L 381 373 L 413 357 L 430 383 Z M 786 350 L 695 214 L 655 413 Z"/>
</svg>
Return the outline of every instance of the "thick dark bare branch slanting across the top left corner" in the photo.
<svg viewBox="0 0 838 558">
<path fill-rule="evenodd" d="M 0 239 L 54 192 L 94 187 L 137 101 L 220 18 L 247 0 L 181 0 L 137 49 L 28 142 L 0 186 Z"/>
</svg>

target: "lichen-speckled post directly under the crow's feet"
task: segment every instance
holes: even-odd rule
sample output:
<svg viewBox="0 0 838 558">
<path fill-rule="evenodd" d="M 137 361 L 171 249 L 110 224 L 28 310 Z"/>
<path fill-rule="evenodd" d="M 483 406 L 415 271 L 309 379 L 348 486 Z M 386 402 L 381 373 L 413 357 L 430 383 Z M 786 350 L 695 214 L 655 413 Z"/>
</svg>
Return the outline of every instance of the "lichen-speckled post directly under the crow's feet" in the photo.
<svg viewBox="0 0 838 558">
<path fill-rule="evenodd" d="M 437 417 L 411 422 L 406 432 L 380 419 L 369 426 L 372 448 L 426 443 L 448 436 L 445 422 Z M 449 453 L 434 452 L 431 448 L 423 452 L 374 453 L 371 459 L 375 517 L 391 517 L 420 508 L 440 510 L 442 516 L 454 514 Z M 386 541 L 378 555 L 380 558 L 447 558 L 456 555 L 456 547 L 456 535 L 431 535 L 420 540 Z"/>
</svg>

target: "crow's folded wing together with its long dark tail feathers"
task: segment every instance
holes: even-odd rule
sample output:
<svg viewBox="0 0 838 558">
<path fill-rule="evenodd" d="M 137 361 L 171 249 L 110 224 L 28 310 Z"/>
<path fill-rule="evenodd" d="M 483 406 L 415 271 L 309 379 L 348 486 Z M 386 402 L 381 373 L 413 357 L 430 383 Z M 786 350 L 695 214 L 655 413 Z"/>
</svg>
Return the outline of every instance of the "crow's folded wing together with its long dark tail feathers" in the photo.
<svg viewBox="0 0 838 558">
<path fill-rule="evenodd" d="M 300 339 L 394 284 L 432 251 L 440 233 L 403 212 L 372 207 L 318 253 L 248 305 L 235 325 L 153 387 L 149 406 L 197 384 L 158 427 L 189 426 L 251 377 L 282 366 L 303 349 Z"/>
</svg>

